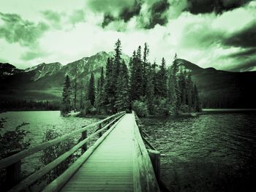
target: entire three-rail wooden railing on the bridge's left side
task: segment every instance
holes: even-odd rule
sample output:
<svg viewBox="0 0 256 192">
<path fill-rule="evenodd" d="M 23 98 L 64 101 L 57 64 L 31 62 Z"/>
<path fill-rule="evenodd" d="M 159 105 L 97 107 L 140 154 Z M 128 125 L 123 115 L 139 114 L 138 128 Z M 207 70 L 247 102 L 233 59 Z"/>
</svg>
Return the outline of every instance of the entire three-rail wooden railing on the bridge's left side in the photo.
<svg viewBox="0 0 256 192">
<path fill-rule="evenodd" d="M 37 153 L 38 151 L 44 150 L 47 147 L 56 145 L 60 142 L 63 142 L 64 140 L 78 136 L 78 134 L 81 134 L 81 137 L 79 139 L 79 142 L 77 145 L 72 147 L 69 151 L 66 153 L 60 155 L 58 158 L 56 158 L 54 161 L 50 162 L 50 164 L 47 164 L 46 166 L 39 169 L 37 172 L 34 172 L 33 174 L 29 175 L 29 177 L 26 177 L 25 180 L 18 183 L 18 185 L 15 185 L 10 189 L 10 191 L 22 191 L 25 188 L 28 188 L 32 183 L 39 180 L 42 176 L 45 174 L 48 174 L 52 169 L 54 169 L 56 166 L 61 164 L 64 160 L 66 160 L 70 155 L 75 153 L 78 149 L 82 148 L 83 155 L 78 158 L 74 164 L 69 166 L 69 168 L 61 174 L 61 176 L 57 177 L 56 180 L 53 180 L 50 185 L 48 185 L 44 191 L 58 191 L 59 188 L 61 188 L 64 183 L 69 180 L 69 177 L 72 177 L 72 174 L 75 173 L 75 171 L 80 167 L 81 164 L 86 160 L 86 158 L 93 153 L 94 149 L 105 139 L 105 137 L 108 136 L 111 129 L 113 129 L 119 120 L 124 116 L 125 112 L 119 112 L 116 115 L 111 115 L 108 118 L 105 118 L 104 120 L 99 120 L 97 123 L 92 123 L 88 126 L 82 126 L 78 130 L 72 131 L 69 134 L 65 134 L 61 137 L 57 137 L 56 139 L 52 139 L 48 142 L 44 142 L 42 144 L 36 145 L 34 147 L 29 148 L 28 150 L 23 150 L 19 153 L 16 153 L 15 155 L 11 155 L 10 157 L 4 158 L 0 161 L 0 169 L 8 169 L 10 166 L 14 166 L 15 164 L 20 164 L 20 161 L 23 158 L 26 158 L 29 155 L 32 155 L 34 153 Z M 87 136 L 87 130 L 89 128 L 94 128 L 98 126 L 97 130 L 91 134 L 89 137 Z M 108 131 L 105 131 L 108 130 Z M 102 134 L 102 131 L 105 131 L 104 134 Z M 89 139 L 99 135 L 99 139 L 92 145 L 88 150 L 86 143 L 89 141 Z M 20 169 L 17 169 L 20 170 Z M 13 172 L 13 174 L 19 174 L 18 172 Z"/>
</svg>

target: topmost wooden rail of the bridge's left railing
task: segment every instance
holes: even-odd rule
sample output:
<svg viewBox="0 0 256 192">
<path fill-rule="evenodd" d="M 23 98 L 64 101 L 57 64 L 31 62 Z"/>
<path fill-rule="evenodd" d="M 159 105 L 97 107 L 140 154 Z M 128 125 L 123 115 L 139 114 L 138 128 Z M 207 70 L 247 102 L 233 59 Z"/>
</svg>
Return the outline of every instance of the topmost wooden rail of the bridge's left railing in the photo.
<svg viewBox="0 0 256 192">
<path fill-rule="evenodd" d="M 62 142 L 64 141 L 65 139 L 68 139 L 70 137 L 74 137 L 76 134 L 80 134 L 82 133 L 83 131 L 86 131 L 88 130 L 89 128 L 91 127 L 94 127 L 94 126 L 97 126 L 99 125 L 100 123 L 103 123 L 105 122 L 106 120 L 109 120 L 110 118 L 114 118 L 116 117 L 117 115 L 121 115 L 121 114 L 124 114 L 125 112 L 119 112 L 117 113 L 116 115 L 111 115 L 110 117 L 108 118 L 105 118 L 104 120 L 99 120 L 98 122 L 96 123 L 92 123 L 88 126 L 82 126 L 82 128 L 78 129 L 78 130 L 75 130 L 75 131 L 72 131 L 71 133 L 69 134 L 65 134 L 61 137 L 57 137 L 56 139 L 52 139 L 48 142 L 44 142 L 42 144 L 39 144 L 39 145 L 36 145 L 34 147 L 31 147 L 27 150 L 23 150 L 21 151 L 20 153 L 16 153 L 15 155 L 12 155 L 10 157 L 7 157 L 7 158 L 4 158 L 0 161 L 0 169 L 4 169 L 6 168 L 7 166 L 10 166 L 11 164 L 14 164 L 15 162 L 18 162 L 20 161 L 21 159 L 23 158 L 26 158 L 27 156 L 33 154 L 33 153 L 36 153 L 38 152 L 39 150 L 44 150 L 45 148 L 47 147 L 50 147 L 52 145 L 56 145 L 58 144 L 59 142 Z"/>
</svg>

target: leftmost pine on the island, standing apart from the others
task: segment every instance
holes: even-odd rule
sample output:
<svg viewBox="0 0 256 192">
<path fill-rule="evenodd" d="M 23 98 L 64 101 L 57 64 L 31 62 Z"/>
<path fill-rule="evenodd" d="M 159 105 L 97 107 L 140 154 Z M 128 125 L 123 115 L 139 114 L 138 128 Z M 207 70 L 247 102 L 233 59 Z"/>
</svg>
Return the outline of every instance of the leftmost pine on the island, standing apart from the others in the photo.
<svg viewBox="0 0 256 192">
<path fill-rule="evenodd" d="M 64 88 L 62 92 L 62 106 L 61 106 L 61 115 L 67 114 L 70 111 L 70 79 L 69 76 L 66 76 L 66 80 L 64 82 Z"/>
</svg>

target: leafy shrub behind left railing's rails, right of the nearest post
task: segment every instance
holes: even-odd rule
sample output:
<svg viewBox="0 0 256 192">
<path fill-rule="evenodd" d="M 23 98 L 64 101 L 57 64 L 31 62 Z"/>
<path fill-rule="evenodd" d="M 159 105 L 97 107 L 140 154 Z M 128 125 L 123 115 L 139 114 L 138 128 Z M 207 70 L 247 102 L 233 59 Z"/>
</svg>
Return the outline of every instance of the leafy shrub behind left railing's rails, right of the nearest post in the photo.
<svg viewBox="0 0 256 192">
<path fill-rule="evenodd" d="M 54 128 L 48 128 L 45 131 L 44 137 L 42 138 L 42 142 L 47 142 L 51 139 L 55 139 L 56 137 L 60 137 L 61 134 L 56 131 Z M 40 157 L 40 161 L 42 164 L 49 164 L 51 161 L 54 161 L 56 158 L 58 158 L 61 154 L 67 152 L 71 149 L 71 147 L 74 145 L 74 140 L 66 139 L 63 142 L 60 142 L 56 145 L 53 145 L 51 147 L 45 148 L 45 150 L 42 151 L 42 155 Z M 72 155 L 69 156 L 65 161 L 63 161 L 59 166 L 56 166 L 55 169 L 53 169 L 48 175 L 47 180 L 48 183 L 51 180 L 54 180 L 56 177 L 58 177 L 62 172 L 64 172 L 69 164 L 72 162 Z"/>
</svg>

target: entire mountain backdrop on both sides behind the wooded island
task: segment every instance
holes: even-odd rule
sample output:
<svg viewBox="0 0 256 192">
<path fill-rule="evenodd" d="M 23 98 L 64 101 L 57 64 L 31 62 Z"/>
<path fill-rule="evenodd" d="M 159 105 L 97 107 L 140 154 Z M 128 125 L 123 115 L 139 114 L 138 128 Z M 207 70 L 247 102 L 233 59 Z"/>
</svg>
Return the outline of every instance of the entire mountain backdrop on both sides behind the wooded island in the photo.
<svg viewBox="0 0 256 192">
<path fill-rule="evenodd" d="M 96 78 L 113 52 L 99 52 L 65 66 L 60 63 L 39 64 L 28 69 L 17 69 L 11 64 L 0 64 L 0 99 L 57 100 L 61 98 L 64 77 L 71 82 L 78 77 L 78 89 L 83 93 L 91 72 Z M 129 57 L 122 55 L 128 64 Z M 203 69 L 178 58 L 178 64 L 192 72 L 203 107 L 255 108 L 256 72 L 225 72 L 214 68 Z M 78 92 L 80 92 L 80 90 Z"/>
</svg>

